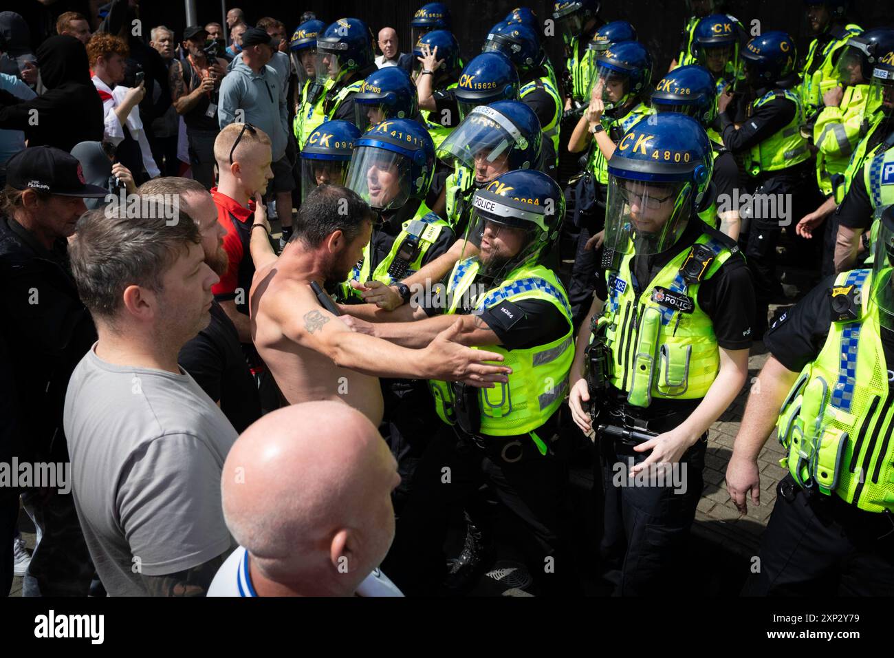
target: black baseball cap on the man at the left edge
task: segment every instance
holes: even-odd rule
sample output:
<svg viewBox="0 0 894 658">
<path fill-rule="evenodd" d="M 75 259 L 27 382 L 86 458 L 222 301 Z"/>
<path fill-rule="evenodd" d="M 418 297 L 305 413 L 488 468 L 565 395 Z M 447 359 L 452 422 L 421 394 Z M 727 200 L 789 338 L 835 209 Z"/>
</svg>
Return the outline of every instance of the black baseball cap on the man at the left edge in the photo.
<svg viewBox="0 0 894 658">
<path fill-rule="evenodd" d="M 78 158 L 52 146 L 32 146 L 9 158 L 6 184 L 13 190 L 43 190 L 84 199 L 102 199 L 109 193 L 84 180 Z"/>
</svg>

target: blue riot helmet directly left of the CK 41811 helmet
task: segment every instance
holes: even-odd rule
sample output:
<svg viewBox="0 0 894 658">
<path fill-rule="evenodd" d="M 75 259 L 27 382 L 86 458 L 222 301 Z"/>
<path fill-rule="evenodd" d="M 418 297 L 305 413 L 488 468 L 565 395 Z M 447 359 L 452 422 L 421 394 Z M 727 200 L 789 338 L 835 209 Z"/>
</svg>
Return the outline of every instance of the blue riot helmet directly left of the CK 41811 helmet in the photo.
<svg viewBox="0 0 894 658">
<path fill-rule="evenodd" d="M 335 119 L 320 124 L 308 135 L 300 154 L 302 202 L 317 185 L 344 184 L 360 134 L 350 121 Z"/>
</svg>

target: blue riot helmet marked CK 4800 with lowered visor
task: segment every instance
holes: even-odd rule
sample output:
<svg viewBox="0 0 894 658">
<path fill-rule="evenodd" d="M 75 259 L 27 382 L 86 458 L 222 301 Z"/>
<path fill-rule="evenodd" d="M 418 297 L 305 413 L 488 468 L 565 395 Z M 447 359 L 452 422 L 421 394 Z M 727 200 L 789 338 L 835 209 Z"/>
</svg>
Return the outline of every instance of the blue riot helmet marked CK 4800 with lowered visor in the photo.
<svg viewBox="0 0 894 658">
<path fill-rule="evenodd" d="M 608 172 L 605 248 L 664 252 L 697 217 L 710 189 L 711 142 L 690 116 L 654 115 L 624 133 Z"/>
</svg>

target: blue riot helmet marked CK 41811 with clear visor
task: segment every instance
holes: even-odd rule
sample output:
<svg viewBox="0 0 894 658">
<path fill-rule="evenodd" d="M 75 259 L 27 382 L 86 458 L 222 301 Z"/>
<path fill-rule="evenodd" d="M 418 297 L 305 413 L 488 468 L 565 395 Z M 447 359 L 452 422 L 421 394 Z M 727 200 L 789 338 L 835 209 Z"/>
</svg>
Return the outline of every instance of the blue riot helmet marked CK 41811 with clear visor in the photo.
<svg viewBox="0 0 894 658">
<path fill-rule="evenodd" d="M 345 185 L 372 209 L 392 210 L 409 199 L 424 200 L 433 175 L 434 142 L 425 126 L 386 119 L 358 139 Z"/>
</svg>

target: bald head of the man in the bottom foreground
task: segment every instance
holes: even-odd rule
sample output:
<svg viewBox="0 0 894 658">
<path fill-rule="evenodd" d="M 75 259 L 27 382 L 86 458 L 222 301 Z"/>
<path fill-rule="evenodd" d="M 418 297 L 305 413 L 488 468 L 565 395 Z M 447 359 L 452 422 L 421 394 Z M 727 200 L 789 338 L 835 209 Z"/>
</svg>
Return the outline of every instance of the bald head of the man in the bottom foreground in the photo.
<svg viewBox="0 0 894 658">
<path fill-rule="evenodd" d="M 263 577 L 295 594 L 353 594 L 394 536 L 400 477 L 364 414 L 287 406 L 242 433 L 223 465 L 223 516 Z"/>
</svg>

